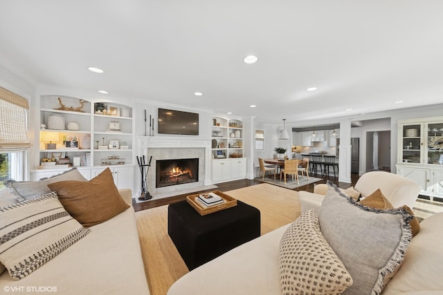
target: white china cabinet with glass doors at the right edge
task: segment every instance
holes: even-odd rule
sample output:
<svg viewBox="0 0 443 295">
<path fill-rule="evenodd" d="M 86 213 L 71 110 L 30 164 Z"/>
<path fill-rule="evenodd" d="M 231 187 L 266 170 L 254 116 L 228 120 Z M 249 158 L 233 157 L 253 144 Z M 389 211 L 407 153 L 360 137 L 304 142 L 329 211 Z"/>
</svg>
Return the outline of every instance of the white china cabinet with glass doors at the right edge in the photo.
<svg viewBox="0 0 443 295">
<path fill-rule="evenodd" d="M 397 174 L 422 186 L 421 194 L 443 197 L 443 117 L 398 122 Z"/>
</svg>

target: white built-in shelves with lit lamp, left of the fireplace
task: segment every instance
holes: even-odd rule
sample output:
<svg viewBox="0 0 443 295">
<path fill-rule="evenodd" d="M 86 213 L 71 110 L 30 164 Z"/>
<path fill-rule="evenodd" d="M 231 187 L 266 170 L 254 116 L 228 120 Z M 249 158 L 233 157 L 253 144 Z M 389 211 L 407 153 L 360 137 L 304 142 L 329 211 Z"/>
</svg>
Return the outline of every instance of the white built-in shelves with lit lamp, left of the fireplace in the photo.
<svg viewBox="0 0 443 295">
<path fill-rule="evenodd" d="M 33 180 L 71 166 L 88 179 L 97 166 L 134 166 L 132 107 L 60 95 L 41 95 L 39 106 Z"/>
</svg>

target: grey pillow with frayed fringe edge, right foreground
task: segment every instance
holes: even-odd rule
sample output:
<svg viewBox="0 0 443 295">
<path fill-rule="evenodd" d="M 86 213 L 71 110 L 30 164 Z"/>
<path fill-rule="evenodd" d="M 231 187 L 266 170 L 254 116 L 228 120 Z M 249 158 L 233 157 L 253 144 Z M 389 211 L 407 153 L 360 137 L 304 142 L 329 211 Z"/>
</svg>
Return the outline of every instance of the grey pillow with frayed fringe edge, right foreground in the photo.
<svg viewBox="0 0 443 295">
<path fill-rule="evenodd" d="M 381 294 L 404 260 L 412 238 L 403 209 L 374 209 L 359 204 L 327 182 L 318 212 L 320 229 L 343 261 L 354 284 L 349 294 Z"/>
</svg>

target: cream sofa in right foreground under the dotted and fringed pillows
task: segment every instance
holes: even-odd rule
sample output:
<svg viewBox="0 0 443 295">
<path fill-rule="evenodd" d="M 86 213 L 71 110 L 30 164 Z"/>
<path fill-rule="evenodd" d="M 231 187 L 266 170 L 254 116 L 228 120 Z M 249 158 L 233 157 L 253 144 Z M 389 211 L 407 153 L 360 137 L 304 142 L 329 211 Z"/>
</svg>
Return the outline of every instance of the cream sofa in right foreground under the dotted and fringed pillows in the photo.
<svg viewBox="0 0 443 295">
<path fill-rule="evenodd" d="M 386 176 L 384 174 L 376 176 L 380 175 Z M 356 186 L 362 189 L 362 192 L 365 191 L 361 186 L 364 181 L 363 178 L 363 183 Z M 418 193 L 419 188 L 412 185 L 408 189 L 405 187 L 397 189 L 401 193 L 395 194 L 396 189 L 390 191 L 399 197 L 401 194 L 408 195 L 410 189 L 414 189 L 413 193 Z M 373 189 L 368 189 L 368 193 L 371 190 Z M 384 192 L 388 194 L 388 191 Z M 399 271 L 381 294 L 443 294 L 443 280 L 440 278 L 443 274 L 442 222 L 443 213 L 435 214 L 421 222 L 420 231 L 410 241 Z M 282 235 L 288 227 L 289 225 L 285 225 L 275 229 L 197 267 L 177 280 L 170 287 L 168 295 L 282 294 L 279 246 Z"/>
</svg>

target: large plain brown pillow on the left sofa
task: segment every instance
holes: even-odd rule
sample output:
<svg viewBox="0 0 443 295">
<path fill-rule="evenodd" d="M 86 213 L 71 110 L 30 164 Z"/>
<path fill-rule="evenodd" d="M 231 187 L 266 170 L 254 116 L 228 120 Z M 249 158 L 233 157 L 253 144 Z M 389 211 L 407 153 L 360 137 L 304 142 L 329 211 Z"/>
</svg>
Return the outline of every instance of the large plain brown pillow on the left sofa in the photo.
<svg viewBox="0 0 443 295">
<path fill-rule="evenodd" d="M 84 227 L 98 225 L 129 208 L 118 193 L 109 168 L 89 182 L 67 180 L 47 185 L 57 192 L 66 211 Z"/>
</svg>

